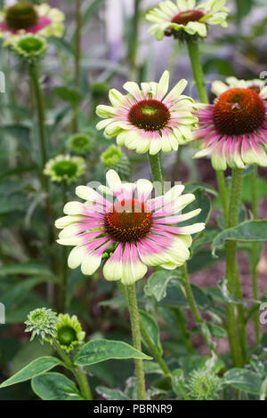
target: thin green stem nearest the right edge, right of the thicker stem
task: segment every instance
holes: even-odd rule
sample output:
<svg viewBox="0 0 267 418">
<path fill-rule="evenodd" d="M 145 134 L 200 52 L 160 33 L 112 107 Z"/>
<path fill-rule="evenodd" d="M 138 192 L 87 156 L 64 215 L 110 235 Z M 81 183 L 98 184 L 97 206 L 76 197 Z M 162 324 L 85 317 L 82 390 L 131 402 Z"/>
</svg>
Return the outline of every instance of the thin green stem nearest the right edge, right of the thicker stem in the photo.
<svg viewBox="0 0 267 418">
<path fill-rule="evenodd" d="M 256 220 L 258 217 L 257 212 L 257 169 L 255 168 L 253 172 L 251 173 L 251 210 L 253 214 L 253 219 Z M 252 291 L 253 291 L 253 297 L 257 301 L 259 298 L 259 292 L 258 292 L 258 275 L 257 275 L 257 263 L 258 263 L 258 244 L 252 243 L 251 245 L 251 272 L 252 272 Z M 258 309 L 255 312 L 254 317 L 254 324 L 255 324 L 255 341 L 258 345 L 261 340 L 261 327 L 260 322 L 258 320 Z"/>
</svg>

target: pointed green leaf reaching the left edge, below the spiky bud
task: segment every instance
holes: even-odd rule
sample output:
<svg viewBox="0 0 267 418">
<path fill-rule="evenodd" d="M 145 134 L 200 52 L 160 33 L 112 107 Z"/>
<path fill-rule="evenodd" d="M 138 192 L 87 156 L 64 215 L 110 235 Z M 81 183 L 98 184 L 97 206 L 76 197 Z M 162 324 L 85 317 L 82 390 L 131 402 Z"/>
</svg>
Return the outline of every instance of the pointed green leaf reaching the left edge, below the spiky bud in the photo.
<svg viewBox="0 0 267 418">
<path fill-rule="evenodd" d="M 28 381 L 33 377 L 44 374 L 48 370 L 51 370 L 53 367 L 60 364 L 61 360 L 59 358 L 49 356 L 36 358 L 36 360 L 29 363 L 28 366 L 21 369 L 20 372 L 14 374 L 12 377 L 7 379 L 7 381 L 3 382 L 0 385 L 0 388 L 6 388 L 7 386 L 12 386 L 12 384 Z"/>
</svg>

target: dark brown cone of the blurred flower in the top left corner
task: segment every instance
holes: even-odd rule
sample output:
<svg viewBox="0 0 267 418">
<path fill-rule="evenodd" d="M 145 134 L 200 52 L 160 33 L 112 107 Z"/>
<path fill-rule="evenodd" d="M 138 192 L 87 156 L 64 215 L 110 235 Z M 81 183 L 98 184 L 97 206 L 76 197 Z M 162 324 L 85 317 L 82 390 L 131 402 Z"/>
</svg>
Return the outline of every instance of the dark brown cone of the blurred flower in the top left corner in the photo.
<svg viewBox="0 0 267 418">
<path fill-rule="evenodd" d="M 7 9 L 5 23 L 12 30 L 32 28 L 38 23 L 36 9 L 28 2 L 14 4 Z"/>
</svg>

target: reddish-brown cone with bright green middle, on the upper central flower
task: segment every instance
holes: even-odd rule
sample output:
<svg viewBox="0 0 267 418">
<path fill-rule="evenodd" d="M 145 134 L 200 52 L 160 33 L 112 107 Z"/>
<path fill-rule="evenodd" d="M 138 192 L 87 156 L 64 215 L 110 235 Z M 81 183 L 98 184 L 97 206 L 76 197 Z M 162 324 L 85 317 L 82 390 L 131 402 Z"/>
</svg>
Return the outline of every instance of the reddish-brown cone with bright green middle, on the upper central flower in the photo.
<svg viewBox="0 0 267 418">
<path fill-rule="evenodd" d="M 128 114 L 131 124 L 145 131 L 159 131 L 167 125 L 170 117 L 165 104 L 154 99 L 139 101 Z"/>
</svg>

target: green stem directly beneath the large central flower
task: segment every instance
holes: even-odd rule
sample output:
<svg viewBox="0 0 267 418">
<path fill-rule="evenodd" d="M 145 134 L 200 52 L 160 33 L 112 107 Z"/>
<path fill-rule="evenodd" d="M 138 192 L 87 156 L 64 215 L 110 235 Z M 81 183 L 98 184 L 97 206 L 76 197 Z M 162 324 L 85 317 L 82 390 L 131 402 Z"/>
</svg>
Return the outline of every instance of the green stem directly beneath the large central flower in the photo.
<svg viewBox="0 0 267 418">
<path fill-rule="evenodd" d="M 125 290 L 130 311 L 134 349 L 142 351 L 140 318 L 136 300 L 135 284 L 125 285 Z M 138 398 L 139 400 L 145 400 L 145 377 L 143 372 L 142 359 L 140 358 L 135 359 L 135 371 L 137 377 Z"/>
</svg>

